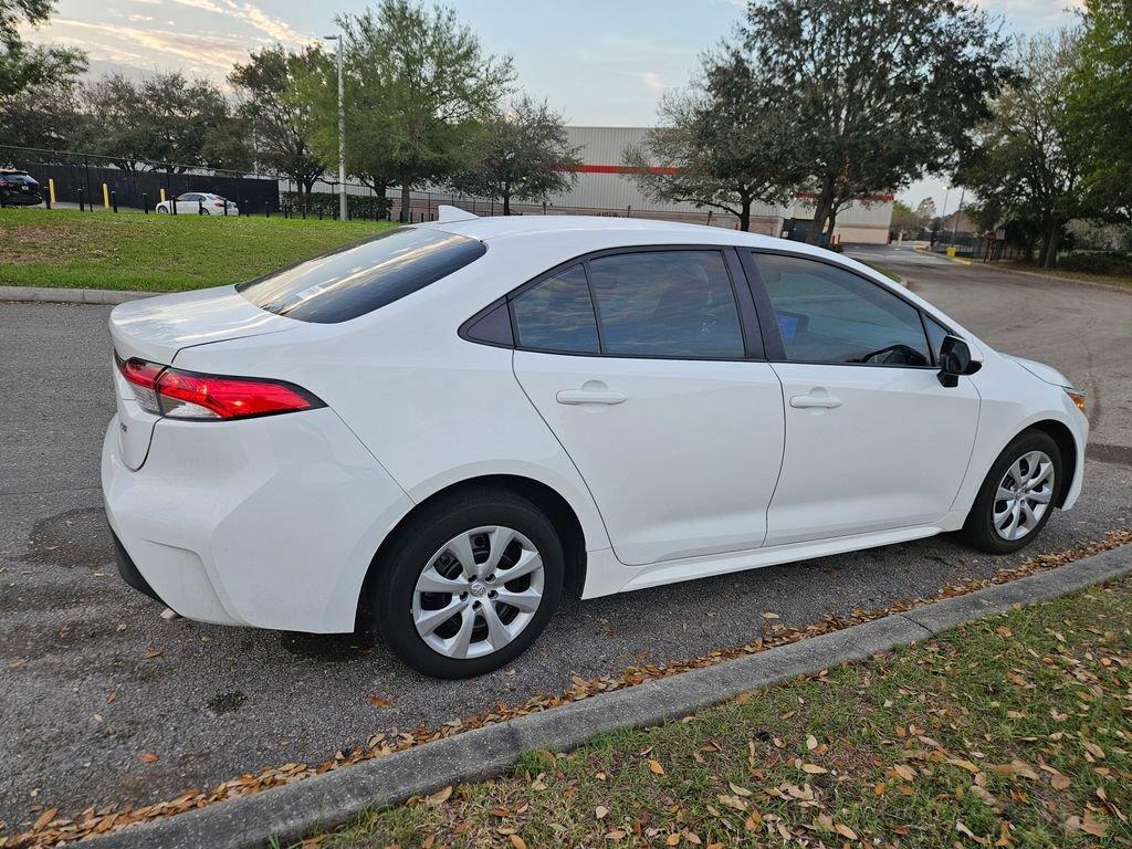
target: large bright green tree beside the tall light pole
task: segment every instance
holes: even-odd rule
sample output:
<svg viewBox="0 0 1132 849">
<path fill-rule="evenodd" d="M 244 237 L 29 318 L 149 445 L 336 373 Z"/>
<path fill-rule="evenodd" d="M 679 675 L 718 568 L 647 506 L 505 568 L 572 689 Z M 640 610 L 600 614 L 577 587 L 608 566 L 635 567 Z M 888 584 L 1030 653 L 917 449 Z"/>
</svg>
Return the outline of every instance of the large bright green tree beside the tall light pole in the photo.
<svg viewBox="0 0 1132 849">
<path fill-rule="evenodd" d="M 413 187 L 464 170 L 513 78 L 511 58 L 486 55 L 452 9 L 381 0 L 337 18 L 345 76 L 346 162 L 374 186 L 401 187 L 401 220 Z M 337 80 L 333 61 L 307 76 L 311 144 L 338 158 Z"/>
</svg>

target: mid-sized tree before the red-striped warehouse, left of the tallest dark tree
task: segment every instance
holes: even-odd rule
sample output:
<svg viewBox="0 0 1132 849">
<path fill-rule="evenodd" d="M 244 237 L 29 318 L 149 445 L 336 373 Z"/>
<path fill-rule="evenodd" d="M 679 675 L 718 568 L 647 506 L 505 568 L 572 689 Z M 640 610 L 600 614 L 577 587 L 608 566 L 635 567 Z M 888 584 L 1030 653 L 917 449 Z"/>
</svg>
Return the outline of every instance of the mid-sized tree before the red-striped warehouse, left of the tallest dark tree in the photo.
<svg viewBox="0 0 1132 849">
<path fill-rule="evenodd" d="M 625 163 L 645 197 L 722 209 L 749 230 L 752 206 L 784 200 L 806 173 L 784 112 L 761 67 L 724 46 L 687 92 L 661 100 L 661 126 Z"/>
</svg>

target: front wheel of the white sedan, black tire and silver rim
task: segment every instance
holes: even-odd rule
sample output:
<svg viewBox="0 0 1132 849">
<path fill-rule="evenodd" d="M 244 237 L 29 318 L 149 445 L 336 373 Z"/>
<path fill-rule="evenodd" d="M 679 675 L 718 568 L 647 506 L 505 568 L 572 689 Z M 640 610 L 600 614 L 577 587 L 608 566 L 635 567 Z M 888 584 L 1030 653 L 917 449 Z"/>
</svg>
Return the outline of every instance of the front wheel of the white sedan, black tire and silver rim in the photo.
<svg viewBox="0 0 1132 849">
<path fill-rule="evenodd" d="M 1053 514 L 1062 474 L 1061 451 L 1053 437 L 1040 430 L 1020 434 L 983 481 L 963 537 L 993 555 L 1028 546 Z"/>
</svg>

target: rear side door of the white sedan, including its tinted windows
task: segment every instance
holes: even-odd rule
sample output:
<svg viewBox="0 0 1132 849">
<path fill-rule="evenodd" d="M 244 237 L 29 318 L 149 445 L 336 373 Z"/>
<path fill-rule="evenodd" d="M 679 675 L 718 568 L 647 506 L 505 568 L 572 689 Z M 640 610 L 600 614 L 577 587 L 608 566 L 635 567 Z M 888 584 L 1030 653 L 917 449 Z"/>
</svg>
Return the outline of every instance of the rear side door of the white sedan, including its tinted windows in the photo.
<svg viewBox="0 0 1132 849">
<path fill-rule="evenodd" d="M 737 255 L 606 252 L 509 299 L 515 375 L 621 563 L 757 548 L 783 447 Z"/>
</svg>

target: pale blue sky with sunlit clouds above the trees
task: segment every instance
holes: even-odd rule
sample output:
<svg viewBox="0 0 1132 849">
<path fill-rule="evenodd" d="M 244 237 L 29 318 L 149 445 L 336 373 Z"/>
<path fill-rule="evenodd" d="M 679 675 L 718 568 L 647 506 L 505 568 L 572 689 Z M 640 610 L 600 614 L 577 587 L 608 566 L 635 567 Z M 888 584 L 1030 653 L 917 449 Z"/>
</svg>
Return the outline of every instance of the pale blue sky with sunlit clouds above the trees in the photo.
<svg viewBox="0 0 1132 849">
<path fill-rule="evenodd" d="M 249 51 L 298 46 L 335 32 L 338 14 L 365 0 L 58 0 L 52 22 L 29 37 L 80 46 L 95 74 L 178 69 L 223 83 Z M 700 52 L 741 18 L 743 0 L 453 0 L 484 48 L 514 57 L 520 84 L 571 123 L 649 126 L 657 100 L 684 85 Z M 1080 0 L 978 0 L 1007 32 L 1034 33 L 1073 18 Z M 944 187 L 926 180 L 901 192 L 942 209 Z M 959 198 L 952 195 L 947 209 Z"/>
</svg>

